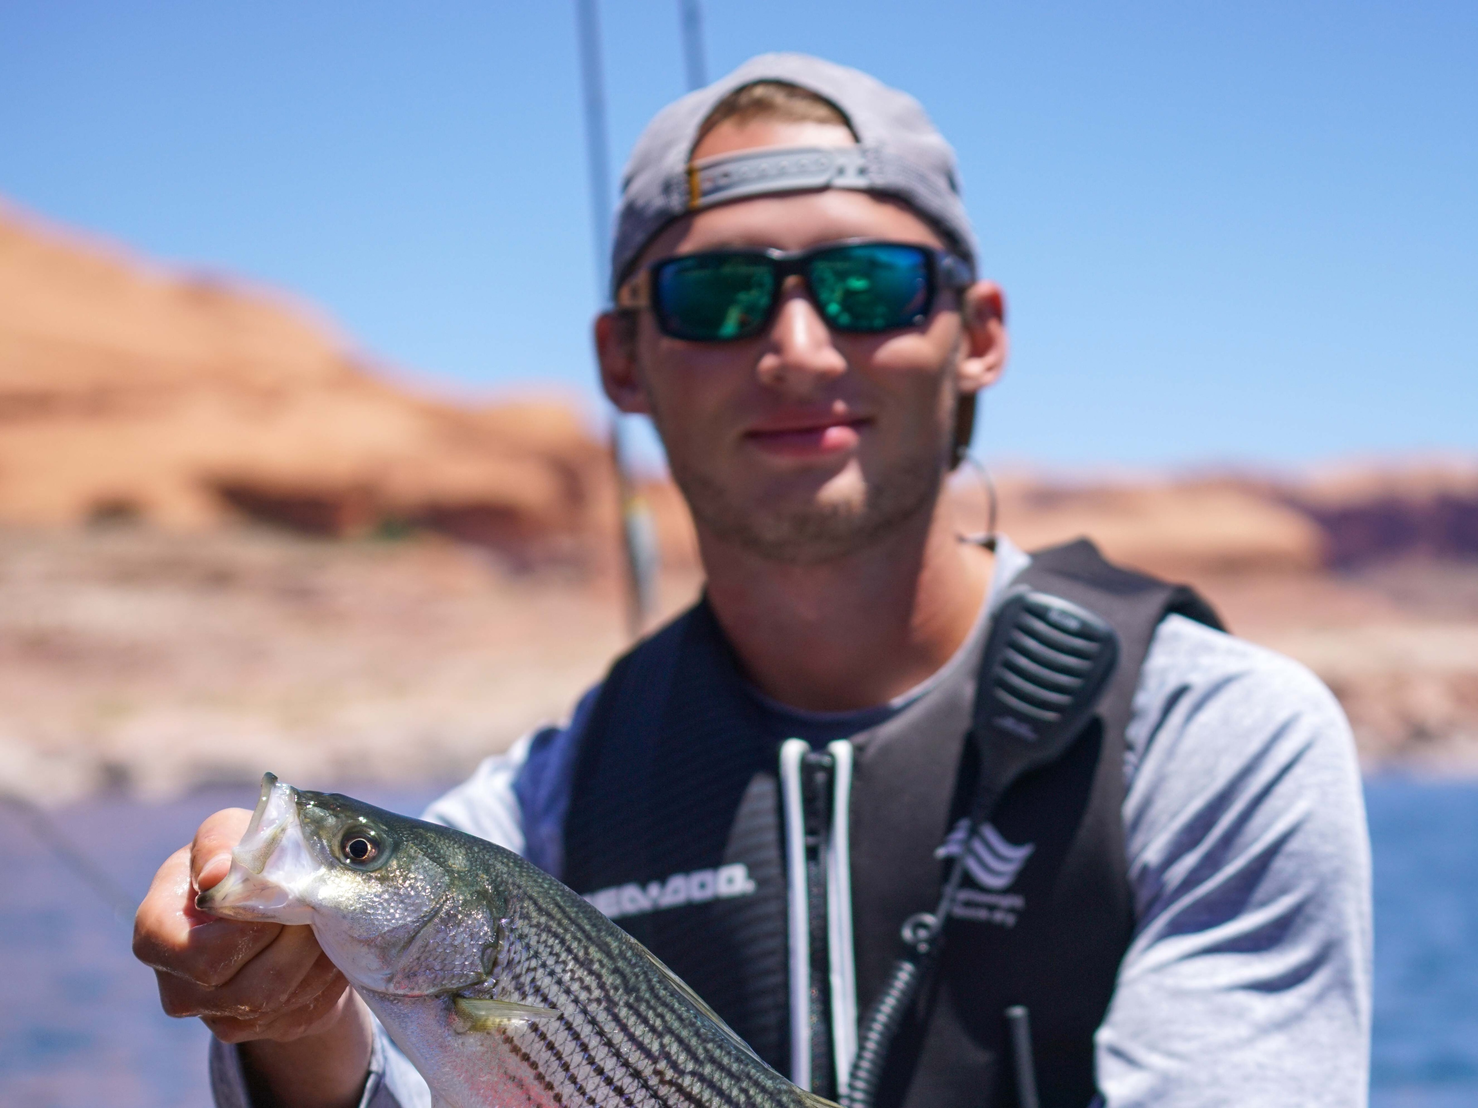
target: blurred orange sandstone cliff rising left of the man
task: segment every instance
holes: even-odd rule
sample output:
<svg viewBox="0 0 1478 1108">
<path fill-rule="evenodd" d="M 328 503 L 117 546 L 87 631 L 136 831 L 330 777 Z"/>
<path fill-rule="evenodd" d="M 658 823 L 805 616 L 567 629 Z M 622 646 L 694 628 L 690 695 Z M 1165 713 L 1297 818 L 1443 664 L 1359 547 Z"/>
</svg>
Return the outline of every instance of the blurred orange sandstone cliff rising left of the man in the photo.
<svg viewBox="0 0 1478 1108">
<path fill-rule="evenodd" d="M 247 514 L 569 557 L 609 501 L 606 468 L 568 406 L 414 396 L 282 300 L 0 208 L 0 520 Z"/>
</svg>

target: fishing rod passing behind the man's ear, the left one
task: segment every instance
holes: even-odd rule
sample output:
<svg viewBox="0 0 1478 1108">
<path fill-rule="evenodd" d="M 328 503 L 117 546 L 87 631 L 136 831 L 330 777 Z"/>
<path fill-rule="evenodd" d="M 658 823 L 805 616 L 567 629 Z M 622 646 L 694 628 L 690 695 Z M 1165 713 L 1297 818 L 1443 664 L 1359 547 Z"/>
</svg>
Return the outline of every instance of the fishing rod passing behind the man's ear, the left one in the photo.
<svg viewBox="0 0 1478 1108">
<path fill-rule="evenodd" d="M 596 291 L 606 303 L 610 257 L 610 145 L 606 129 L 606 77 L 600 64 L 600 16 L 596 0 L 575 0 L 579 75 L 585 106 L 585 161 L 590 168 L 590 222 L 596 247 Z M 621 539 L 627 566 L 627 628 L 640 637 L 656 612 L 659 551 L 652 510 L 633 473 L 631 439 L 621 412 L 610 421 L 610 459 L 621 504 Z"/>
</svg>

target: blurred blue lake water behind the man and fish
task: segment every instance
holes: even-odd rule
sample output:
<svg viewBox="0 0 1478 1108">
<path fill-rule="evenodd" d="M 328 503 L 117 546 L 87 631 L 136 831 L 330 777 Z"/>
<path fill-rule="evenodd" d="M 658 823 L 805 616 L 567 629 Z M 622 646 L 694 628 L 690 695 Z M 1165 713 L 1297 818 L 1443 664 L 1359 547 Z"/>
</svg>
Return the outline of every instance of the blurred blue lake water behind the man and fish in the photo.
<svg viewBox="0 0 1478 1108">
<path fill-rule="evenodd" d="M 432 790 L 361 790 L 417 811 Z M 1382 779 L 1366 787 L 1376 864 L 1375 1108 L 1478 1105 L 1478 783 Z M 64 810 L 72 842 L 134 897 L 200 818 L 254 789 L 168 805 Z M 0 1104 L 7 1108 L 208 1105 L 207 1033 L 166 1018 L 129 928 L 30 824 L 0 807 Z"/>
</svg>

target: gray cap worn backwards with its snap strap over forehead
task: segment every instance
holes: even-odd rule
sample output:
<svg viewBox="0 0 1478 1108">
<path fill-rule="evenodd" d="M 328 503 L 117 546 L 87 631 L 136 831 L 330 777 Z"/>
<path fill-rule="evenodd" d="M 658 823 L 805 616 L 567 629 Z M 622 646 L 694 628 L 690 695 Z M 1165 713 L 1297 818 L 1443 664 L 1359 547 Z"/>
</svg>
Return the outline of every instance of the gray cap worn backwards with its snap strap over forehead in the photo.
<svg viewBox="0 0 1478 1108">
<path fill-rule="evenodd" d="M 698 129 L 708 114 L 729 93 L 758 81 L 785 81 L 831 100 L 851 124 L 857 146 L 777 146 L 690 164 Z M 955 151 L 918 100 L 859 69 L 804 53 L 766 53 L 670 103 L 641 131 L 621 180 L 610 250 L 612 293 L 646 244 L 689 211 L 745 196 L 825 188 L 897 196 L 928 219 L 965 260 L 975 260 L 975 236 L 959 199 Z"/>
</svg>

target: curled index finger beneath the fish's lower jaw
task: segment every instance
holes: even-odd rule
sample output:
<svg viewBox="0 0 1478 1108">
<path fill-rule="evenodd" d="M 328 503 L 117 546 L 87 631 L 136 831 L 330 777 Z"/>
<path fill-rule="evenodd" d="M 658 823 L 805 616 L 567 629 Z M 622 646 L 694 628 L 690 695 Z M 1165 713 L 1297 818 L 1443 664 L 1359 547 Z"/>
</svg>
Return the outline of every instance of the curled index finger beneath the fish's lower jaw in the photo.
<svg viewBox="0 0 1478 1108">
<path fill-rule="evenodd" d="M 166 974 L 219 985 L 268 947 L 282 925 L 242 923 L 197 912 L 189 864 L 186 847 L 154 875 L 133 920 L 133 953 Z"/>
</svg>

